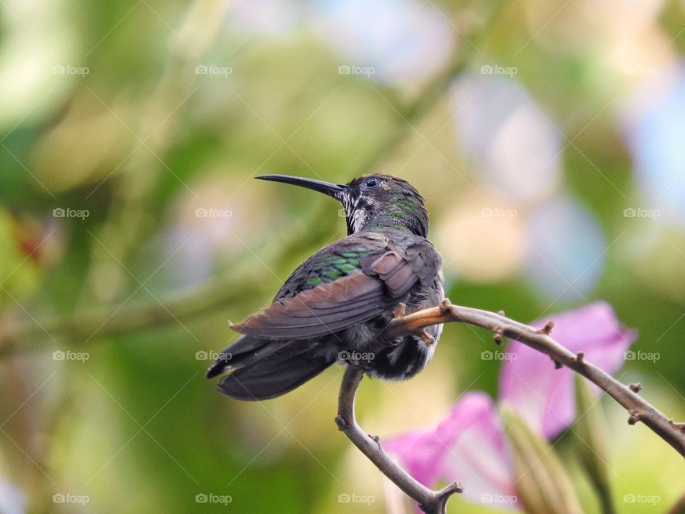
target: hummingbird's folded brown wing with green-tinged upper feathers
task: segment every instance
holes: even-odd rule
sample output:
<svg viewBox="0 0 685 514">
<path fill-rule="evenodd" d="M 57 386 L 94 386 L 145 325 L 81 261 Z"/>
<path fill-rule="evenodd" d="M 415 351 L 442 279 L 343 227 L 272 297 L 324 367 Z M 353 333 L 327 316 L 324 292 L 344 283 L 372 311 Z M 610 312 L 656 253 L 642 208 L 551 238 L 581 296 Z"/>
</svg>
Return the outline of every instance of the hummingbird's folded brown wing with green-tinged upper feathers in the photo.
<svg viewBox="0 0 685 514">
<path fill-rule="evenodd" d="M 268 308 L 233 325 L 233 329 L 258 338 L 306 339 L 387 312 L 406 299 L 417 281 L 430 283 L 440 267 L 440 254 L 424 238 L 411 238 L 407 244 L 405 236 L 403 241 L 405 244 L 400 245 L 392 236 L 365 233 L 333 243 L 305 261 L 299 273 L 288 280 L 315 285 L 287 296 L 290 290 L 286 282 L 279 292 L 281 296 Z M 347 274 L 325 282 L 324 278 L 330 276 L 329 267 L 313 263 L 330 262 L 340 256 L 349 256 L 345 265 L 340 265 Z"/>
</svg>

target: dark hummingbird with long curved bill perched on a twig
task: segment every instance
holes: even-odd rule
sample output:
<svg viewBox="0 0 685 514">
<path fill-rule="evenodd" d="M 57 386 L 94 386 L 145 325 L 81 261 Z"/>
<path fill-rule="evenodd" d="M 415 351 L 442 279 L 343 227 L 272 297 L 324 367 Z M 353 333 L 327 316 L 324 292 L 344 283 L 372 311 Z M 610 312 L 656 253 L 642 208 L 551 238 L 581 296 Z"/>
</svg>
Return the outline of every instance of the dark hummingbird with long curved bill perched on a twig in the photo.
<svg viewBox="0 0 685 514">
<path fill-rule="evenodd" d="M 405 380 L 435 352 L 442 325 L 389 336 L 392 318 L 444 298 L 442 256 L 427 240 L 428 211 L 407 181 L 365 175 L 347 184 L 285 175 L 258 176 L 312 189 L 342 203 L 347 237 L 298 266 L 273 303 L 231 326 L 242 334 L 207 371 L 238 400 L 288 393 L 333 363 L 372 378 Z"/>
</svg>

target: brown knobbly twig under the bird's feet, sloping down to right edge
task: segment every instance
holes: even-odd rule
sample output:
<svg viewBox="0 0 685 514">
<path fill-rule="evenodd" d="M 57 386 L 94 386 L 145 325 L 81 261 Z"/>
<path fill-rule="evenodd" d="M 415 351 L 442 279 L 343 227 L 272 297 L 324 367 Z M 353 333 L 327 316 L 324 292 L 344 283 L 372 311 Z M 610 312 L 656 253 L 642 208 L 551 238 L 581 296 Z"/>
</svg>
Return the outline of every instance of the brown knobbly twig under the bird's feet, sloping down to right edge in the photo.
<svg viewBox="0 0 685 514">
<path fill-rule="evenodd" d="M 507 337 L 523 343 L 552 358 L 555 366 L 566 366 L 592 383 L 599 385 L 609 396 L 617 400 L 629 412 L 628 423 L 641 421 L 659 437 L 685 456 L 685 423 L 674 423 L 637 394 L 639 386 L 625 385 L 585 359 L 584 353 L 573 353 L 549 336 L 553 324 L 542 330 L 505 318 L 501 314 L 480 309 L 455 306 L 443 301 L 439 307 L 428 308 L 407 316 L 392 319 L 387 326 L 389 336 L 420 333 L 437 323 L 468 323 L 492 331 L 496 336 Z"/>
</svg>

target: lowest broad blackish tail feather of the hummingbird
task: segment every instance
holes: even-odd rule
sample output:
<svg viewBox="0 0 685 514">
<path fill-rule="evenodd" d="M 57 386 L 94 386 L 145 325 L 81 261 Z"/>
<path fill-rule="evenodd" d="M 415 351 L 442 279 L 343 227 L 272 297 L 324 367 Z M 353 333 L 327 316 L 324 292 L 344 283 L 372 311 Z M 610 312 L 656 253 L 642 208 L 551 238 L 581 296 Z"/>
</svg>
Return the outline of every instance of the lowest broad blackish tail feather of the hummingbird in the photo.
<svg viewBox="0 0 685 514">
<path fill-rule="evenodd" d="M 283 341 L 280 343 L 282 346 Z M 296 351 L 290 343 L 225 376 L 218 390 L 236 400 L 275 398 L 314 378 L 334 361 L 334 356 L 311 355 L 306 348 Z"/>
</svg>

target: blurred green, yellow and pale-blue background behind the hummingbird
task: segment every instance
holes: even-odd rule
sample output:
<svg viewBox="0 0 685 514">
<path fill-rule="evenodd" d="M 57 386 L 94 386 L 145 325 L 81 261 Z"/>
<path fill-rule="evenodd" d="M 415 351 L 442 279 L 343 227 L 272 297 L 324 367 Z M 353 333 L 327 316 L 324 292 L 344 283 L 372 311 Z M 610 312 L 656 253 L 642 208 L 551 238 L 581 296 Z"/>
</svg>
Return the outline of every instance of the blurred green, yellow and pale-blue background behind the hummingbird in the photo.
<svg viewBox="0 0 685 514">
<path fill-rule="evenodd" d="M 682 1 L 0 13 L 0 512 L 403 511 L 335 428 L 340 367 L 264 403 L 204 378 L 235 339 L 228 320 L 345 235 L 330 198 L 264 173 L 406 178 L 452 301 L 521 321 L 609 301 L 652 354 L 621 381 L 685 418 Z M 495 395 L 493 349 L 447 327 L 414 380 L 362 383 L 360 423 L 385 437 L 435 424 L 466 390 Z M 681 458 L 603 405 L 619 511 L 666 511 Z M 597 512 L 573 444 L 555 448 Z M 370 500 L 339 501 L 352 493 Z"/>
</svg>

